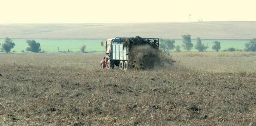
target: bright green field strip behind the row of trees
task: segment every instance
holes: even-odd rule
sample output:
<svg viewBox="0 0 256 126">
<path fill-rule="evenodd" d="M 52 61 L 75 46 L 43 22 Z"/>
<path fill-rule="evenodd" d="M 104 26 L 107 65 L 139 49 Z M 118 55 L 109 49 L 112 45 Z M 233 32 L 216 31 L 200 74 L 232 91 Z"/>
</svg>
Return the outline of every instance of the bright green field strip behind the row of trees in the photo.
<svg viewBox="0 0 256 126">
<path fill-rule="evenodd" d="M 15 47 L 12 51 L 21 52 L 26 50 L 28 47 L 26 43 L 27 39 L 13 39 L 15 42 Z M 104 51 L 104 47 L 101 46 L 101 41 L 104 39 L 35 39 L 41 44 L 42 51 L 45 52 L 58 52 L 58 51 L 79 51 L 82 45 L 86 45 L 86 51 Z M 215 40 L 202 40 L 204 44 L 208 43 L 209 48 L 207 51 L 213 51 L 212 45 Z M 221 49 L 227 49 L 233 47 L 236 49 L 244 49 L 244 44 L 249 40 L 218 40 L 221 42 Z M 4 39 L 0 39 L 0 43 L 3 43 Z M 195 40 L 192 40 L 192 43 L 195 45 Z M 182 45 L 182 39 L 175 40 L 175 45 Z M 59 50 L 58 50 L 59 47 Z M 182 50 L 183 51 L 183 50 Z M 194 48 L 192 51 L 197 51 Z"/>
</svg>

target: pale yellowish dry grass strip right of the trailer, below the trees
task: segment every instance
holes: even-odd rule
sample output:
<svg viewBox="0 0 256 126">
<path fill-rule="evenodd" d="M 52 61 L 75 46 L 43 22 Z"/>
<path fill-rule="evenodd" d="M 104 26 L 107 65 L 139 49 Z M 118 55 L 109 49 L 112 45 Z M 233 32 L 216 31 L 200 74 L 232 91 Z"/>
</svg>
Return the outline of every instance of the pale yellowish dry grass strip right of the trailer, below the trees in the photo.
<svg viewBox="0 0 256 126">
<path fill-rule="evenodd" d="M 179 52 L 173 57 L 185 68 L 212 72 L 255 72 L 256 52 Z"/>
</svg>

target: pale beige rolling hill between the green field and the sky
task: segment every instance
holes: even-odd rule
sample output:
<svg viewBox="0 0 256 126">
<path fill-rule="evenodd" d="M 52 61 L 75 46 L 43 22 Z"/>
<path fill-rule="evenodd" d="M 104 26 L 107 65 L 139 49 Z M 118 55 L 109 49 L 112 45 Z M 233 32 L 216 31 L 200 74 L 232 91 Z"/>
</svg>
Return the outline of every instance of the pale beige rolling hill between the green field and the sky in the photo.
<svg viewBox="0 0 256 126">
<path fill-rule="evenodd" d="M 113 38 L 142 36 L 181 39 L 252 39 L 256 22 L 169 22 L 169 23 L 83 23 L 0 24 L 0 38 L 21 39 Z"/>
</svg>

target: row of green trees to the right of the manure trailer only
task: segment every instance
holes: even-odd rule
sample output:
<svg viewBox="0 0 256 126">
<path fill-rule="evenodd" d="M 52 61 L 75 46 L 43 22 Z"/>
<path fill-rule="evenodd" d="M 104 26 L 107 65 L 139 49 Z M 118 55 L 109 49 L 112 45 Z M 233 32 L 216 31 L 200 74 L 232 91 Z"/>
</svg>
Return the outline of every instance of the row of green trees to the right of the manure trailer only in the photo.
<svg viewBox="0 0 256 126">
<path fill-rule="evenodd" d="M 182 45 L 175 45 L 175 40 L 171 39 L 160 39 L 160 47 L 163 49 L 164 52 L 169 52 L 173 49 L 176 49 L 175 52 L 181 52 L 181 47 L 186 50 L 186 51 L 191 51 L 191 49 L 194 48 L 197 49 L 199 52 L 204 52 L 206 49 L 209 48 L 208 44 L 204 45 L 201 41 L 201 38 L 197 37 L 195 45 L 191 42 L 191 35 L 186 34 L 182 35 Z M 220 51 L 220 42 L 219 41 L 214 41 L 212 49 L 215 50 L 216 52 Z M 223 51 L 242 51 L 241 49 L 235 49 L 235 48 L 228 48 Z M 256 51 L 256 39 L 250 40 L 248 43 L 245 44 L 245 48 L 243 51 Z"/>
</svg>

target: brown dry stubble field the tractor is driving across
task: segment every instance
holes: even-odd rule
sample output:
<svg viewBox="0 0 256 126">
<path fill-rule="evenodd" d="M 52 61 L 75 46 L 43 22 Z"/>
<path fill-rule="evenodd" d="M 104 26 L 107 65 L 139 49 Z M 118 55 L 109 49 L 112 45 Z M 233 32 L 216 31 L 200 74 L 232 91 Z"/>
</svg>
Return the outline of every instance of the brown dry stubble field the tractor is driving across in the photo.
<svg viewBox="0 0 256 126">
<path fill-rule="evenodd" d="M 1 54 L 0 125 L 256 125 L 255 71 L 212 72 L 221 63 L 203 58 L 218 57 L 194 56 L 124 74 L 99 70 L 102 56 Z M 236 60 L 255 68 L 252 58 Z"/>
</svg>

